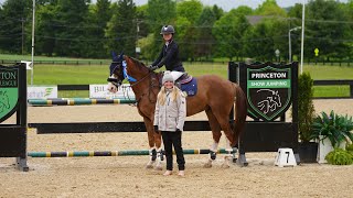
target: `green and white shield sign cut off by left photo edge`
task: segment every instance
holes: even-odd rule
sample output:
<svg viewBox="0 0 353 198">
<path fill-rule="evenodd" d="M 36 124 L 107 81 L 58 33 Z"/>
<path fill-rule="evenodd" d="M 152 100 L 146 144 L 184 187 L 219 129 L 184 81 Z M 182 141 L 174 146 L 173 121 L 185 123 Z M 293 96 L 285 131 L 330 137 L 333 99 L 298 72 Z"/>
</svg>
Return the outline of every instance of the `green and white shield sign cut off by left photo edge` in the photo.
<svg viewBox="0 0 353 198">
<path fill-rule="evenodd" d="M 19 68 L 0 66 L 0 122 L 17 111 Z"/>
</svg>

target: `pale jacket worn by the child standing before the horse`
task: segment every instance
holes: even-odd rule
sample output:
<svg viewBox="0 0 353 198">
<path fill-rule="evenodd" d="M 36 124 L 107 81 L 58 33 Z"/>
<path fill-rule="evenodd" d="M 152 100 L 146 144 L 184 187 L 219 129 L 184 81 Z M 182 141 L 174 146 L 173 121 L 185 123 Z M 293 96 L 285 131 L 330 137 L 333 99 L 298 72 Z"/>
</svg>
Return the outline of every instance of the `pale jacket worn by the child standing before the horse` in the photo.
<svg viewBox="0 0 353 198">
<path fill-rule="evenodd" d="M 183 131 L 185 117 L 186 99 L 184 94 L 179 90 L 179 96 L 174 101 L 171 99 L 171 94 L 167 95 L 164 106 L 157 101 L 153 125 L 158 125 L 159 131 L 175 132 L 176 129 Z"/>
</svg>

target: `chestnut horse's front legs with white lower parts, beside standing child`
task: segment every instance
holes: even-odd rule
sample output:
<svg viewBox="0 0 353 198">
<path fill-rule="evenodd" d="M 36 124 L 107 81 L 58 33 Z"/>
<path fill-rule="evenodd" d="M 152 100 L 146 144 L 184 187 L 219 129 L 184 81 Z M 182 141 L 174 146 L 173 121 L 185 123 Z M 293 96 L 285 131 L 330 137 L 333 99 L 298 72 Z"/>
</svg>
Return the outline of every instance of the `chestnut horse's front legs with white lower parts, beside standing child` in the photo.
<svg viewBox="0 0 353 198">
<path fill-rule="evenodd" d="M 147 129 L 147 135 L 148 135 L 148 143 L 149 143 L 149 162 L 147 163 L 147 168 L 152 168 L 154 163 L 156 169 L 162 169 L 162 162 L 163 161 L 163 151 L 161 147 L 161 134 L 156 133 L 153 129 L 153 123 L 150 119 L 143 118 L 145 125 Z"/>
</svg>

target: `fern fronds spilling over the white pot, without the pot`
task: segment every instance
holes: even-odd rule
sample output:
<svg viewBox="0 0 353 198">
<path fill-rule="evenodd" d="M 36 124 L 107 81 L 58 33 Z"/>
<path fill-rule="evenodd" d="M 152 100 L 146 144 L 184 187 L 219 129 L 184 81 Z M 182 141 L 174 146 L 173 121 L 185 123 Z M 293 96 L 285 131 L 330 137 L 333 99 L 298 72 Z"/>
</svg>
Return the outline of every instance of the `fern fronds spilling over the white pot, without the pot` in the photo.
<svg viewBox="0 0 353 198">
<path fill-rule="evenodd" d="M 314 118 L 312 123 L 312 139 L 330 139 L 333 147 L 339 146 L 346 139 L 353 141 L 353 121 L 352 117 L 339 116 L 333 112 L 327 114 L 321 112 L 321 116 Z"/>
</svg>

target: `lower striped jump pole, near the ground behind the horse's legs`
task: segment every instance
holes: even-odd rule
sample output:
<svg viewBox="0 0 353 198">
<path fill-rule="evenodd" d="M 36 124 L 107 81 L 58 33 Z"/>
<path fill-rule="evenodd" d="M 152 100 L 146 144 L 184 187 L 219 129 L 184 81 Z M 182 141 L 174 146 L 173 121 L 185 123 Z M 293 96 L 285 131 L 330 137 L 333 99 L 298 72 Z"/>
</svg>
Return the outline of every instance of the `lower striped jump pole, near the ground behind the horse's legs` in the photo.
<svg viewBox="0 0 353 198">
<path fill-rule="evenodd" d="M 185 155 L 208 154 L 210 150 L 183 150 Z M 225 154 L 225 148 L 217 150 L 218 154 Z M 173 152 L 173 154 L 175 154 Z M 129 156 L 149 155 L 148 150 L 127 151 L 68 151 L 68 152 L 29 152 L 30 157 L 90 157 L 90 156 Z"/>
</svg>

